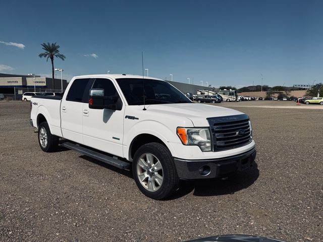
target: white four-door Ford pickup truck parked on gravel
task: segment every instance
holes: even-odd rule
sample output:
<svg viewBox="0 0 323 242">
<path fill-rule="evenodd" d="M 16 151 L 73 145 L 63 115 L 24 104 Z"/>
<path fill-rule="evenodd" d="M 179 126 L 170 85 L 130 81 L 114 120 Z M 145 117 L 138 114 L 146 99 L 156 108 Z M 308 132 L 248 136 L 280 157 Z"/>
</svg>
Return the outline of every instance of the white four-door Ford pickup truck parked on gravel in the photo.
<svg viewBox="0 0 323 242">
<path fill-rule="evenodd" d="M 77 76 L 63 97 L 33 96 L 30 103 L 43 151 L 63 145 L 121 169 L 132 165 L 138 188 L 153 199 L 172 195 L 179 179 L 255 165 L 248 115 L 193 103 L 156 78 Z"/>
</svg>

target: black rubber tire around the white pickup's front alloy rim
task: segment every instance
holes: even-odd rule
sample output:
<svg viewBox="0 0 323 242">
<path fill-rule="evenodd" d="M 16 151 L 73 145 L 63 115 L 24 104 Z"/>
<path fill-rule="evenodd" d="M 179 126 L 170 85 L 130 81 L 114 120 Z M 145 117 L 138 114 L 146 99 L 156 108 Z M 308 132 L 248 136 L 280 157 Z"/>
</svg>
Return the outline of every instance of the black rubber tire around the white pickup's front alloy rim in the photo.
<svg viewBox="0 0 323 242">
<path fill-rule="evenodd" d="M 162 167 L 163 183 L 156 191 L 149 191 L 148 188 L 144 187 L 137 174 L 139 158 L 147 153 L 155 156 Z M 167 147 L 160 143 L 148 143 L 141 146 L 136 151 L 132 162 L 132 173 L 139 190 L 147 197 L 155 200 L 161 200 L 171 196 L 179 186 L 179 178 L 174 164 L 174 158 Z M 147 177 L 147 179 L 149 179 L 149 177 Z"/>
</svg>

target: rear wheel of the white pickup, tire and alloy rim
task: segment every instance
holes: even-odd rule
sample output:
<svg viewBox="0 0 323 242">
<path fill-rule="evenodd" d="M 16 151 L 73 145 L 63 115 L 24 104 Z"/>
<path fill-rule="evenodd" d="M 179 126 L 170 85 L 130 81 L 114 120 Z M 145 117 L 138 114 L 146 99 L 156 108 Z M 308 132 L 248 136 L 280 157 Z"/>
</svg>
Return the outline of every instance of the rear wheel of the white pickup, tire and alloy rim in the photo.
<svg viewBox="0 0 323 242">
<path fill-rule="evenodd" d="M 59 146 L 59 137 L 50 133 L 47 122 L 42 122 L 38 127 L 38 142 L 40 149 L 52 152 Z"/>
</svg>

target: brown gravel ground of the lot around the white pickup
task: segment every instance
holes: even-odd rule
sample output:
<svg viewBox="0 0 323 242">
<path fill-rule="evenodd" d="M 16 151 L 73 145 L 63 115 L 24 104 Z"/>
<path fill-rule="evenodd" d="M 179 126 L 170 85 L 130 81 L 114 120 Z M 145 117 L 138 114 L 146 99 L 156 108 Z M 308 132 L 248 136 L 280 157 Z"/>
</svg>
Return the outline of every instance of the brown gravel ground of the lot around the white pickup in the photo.
<svg viewBox="0 0 323 242">
<path fill-rule="evenodd" d="M 172 198 L 154 201 L 129 171 L 71 150 L 42 152 L 29 103 L 0 102 L 0 240 L 183 241 L 244 233 L 323 241 L 322 110 L 235 104 L 221 105 L 250 115 L 258 169 L 182 182 Z"/>
</svg>

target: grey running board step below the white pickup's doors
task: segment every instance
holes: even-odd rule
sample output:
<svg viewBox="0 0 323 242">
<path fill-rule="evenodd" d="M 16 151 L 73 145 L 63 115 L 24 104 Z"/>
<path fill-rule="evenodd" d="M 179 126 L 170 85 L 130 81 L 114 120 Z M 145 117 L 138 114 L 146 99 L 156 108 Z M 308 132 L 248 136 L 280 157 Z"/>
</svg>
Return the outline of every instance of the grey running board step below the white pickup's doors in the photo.
<svg viewBox="0 0 323 242">
<path fill-rule="evenodd" d="M 130 163 L 128 163 L 128 162 L 113 158 L 111 156 L 101 154 L 101 153 L 99 153 L 97 151 L 94 151 L 94 150 L 91 150 L 89 148 L 80 146 L 78 144 L 73 144 L 73 143 L 70 143 L 70 142 L 64 142 L 64 143 L 62 143 L 62 145 L 64 147 L 68 148 L 68 149 L 75 150 L 75 151 L 80 152 L 80 153 L 82 153 L 84 155 L 87 155 L 87 156 L 89 156 L 91 158 L 94 158 L 96 160 L 102 161 L 102 162 L 104 162 L 106 164 L 116 166 L 116 167 L 118 167 L 120 169 L 130 169 Z"/>
</svg>

